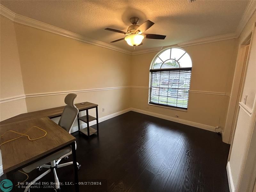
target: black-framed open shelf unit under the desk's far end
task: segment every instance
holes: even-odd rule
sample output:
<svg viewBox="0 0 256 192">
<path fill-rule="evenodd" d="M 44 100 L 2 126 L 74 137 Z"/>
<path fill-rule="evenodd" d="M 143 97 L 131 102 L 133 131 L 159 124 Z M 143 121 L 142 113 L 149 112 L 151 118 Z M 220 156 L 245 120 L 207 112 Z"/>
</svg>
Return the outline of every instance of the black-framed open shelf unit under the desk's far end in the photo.
<svg viewBox="0 0 256 192">
<path fill-rule="evenodd" d="M 82 105 L 82 104 L 80 104 Z M 96 105 L 96 104 L 95 104 Z M 96 117 L 90 116 L 88 110 L 95 108 L 96 109 Z M 98 116 L 98 105 L 97 106 L 93 106 L 93 107 L 89 107 L 89 108 L 83 108 L 82 110 L 79 111 L 85 111 L 86 110 L 86 115 L 79 117 L 79 112 L 77 114 L 77 124 L 78 124 L 78 130 L 82 133 L 84 133 L 85 135 L 87 135 L 88 137 L 90 137 L 90 135 L 94 134 L 97 132 L 97 136 L 99 136 L 99 116 Z M 97 124 L 97 130 L 93 129 L 92 127 L 89 126 L 89 122 L 96 120 L 96 124 Z M 87 124 L 86 128 L 80 129 L 80 122 L 79 121 L 83 121 L 84 123 Z"/>
</svg>

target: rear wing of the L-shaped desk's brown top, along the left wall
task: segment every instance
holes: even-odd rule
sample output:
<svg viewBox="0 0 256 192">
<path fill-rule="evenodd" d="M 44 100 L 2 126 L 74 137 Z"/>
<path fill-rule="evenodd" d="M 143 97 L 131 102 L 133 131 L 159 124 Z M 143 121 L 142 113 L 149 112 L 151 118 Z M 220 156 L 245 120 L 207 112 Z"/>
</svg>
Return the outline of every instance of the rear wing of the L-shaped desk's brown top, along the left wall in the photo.
<svg viewBox="0 0 256 192">
<path fill-rule="evenodd" d="M 90 102 L 83 102 L 83 103 L 84 104 L 81 104 L 81 103 L 75 104 L 79 111 L 89 109 L 89 108 L 94 108 L 94 107 L 98 106 L 97 104 L 90 103 Z M 65 106 L 61 106 L 61 107 L 55 107 L 55 108 L 50 108 L 50 109 L 44 109 L 44 110 L 40 110 L 40 111 L 33 111 L 33 112 L 29 112 L 29 113 L 22 113 L 20 115 L 11 117 L 4 121 L 1 121 L 0 125 L 24 121 L 24 120 L 28 120 L 28 119 L 35 118 L 35 117 L 37 117 L 37 118 L 40 118 L 40 117 L 52 118 L 55 116 L 60 116 L 63 112 L 64 107 Z"/>
</svg>

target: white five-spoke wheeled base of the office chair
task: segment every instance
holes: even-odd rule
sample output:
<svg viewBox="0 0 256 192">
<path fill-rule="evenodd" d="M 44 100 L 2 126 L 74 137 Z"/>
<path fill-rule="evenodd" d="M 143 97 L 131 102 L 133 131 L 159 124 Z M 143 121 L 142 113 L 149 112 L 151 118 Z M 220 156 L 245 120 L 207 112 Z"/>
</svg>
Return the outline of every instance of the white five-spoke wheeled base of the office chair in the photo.
<svg viewBox="0 0 256 192">
<path fill-rule="evenodd" d="M 54 174 L 54 183 L 56 183 L 55 185 L 55 191 L 60 191 L 60 182 L 59 182 L 59 178 L 57 176 L 57 172 L 56 172 L 56 169 L 57 168 L 60 168 L 60 167 L 65 167 L 65 166 L 68 166 L 68 165 L 71 165 L 73 164 L 73 162 L 68 162 L 68 163 L 63 163 L 63 164 L 59 164 L 61 159 L 59 159 L 57 162 L 54 160 L 54 161 L 51 161 L 51 165 L 42 165 L 40 167 L 38 167 L 38 170 L 42 170 L 42 168 L 48 168 L 47 171 L 45 171 L 44 173 L 42 173 L 41 175 L 39 175 L 38 177 L 36 177 L 36 179 L 32 180 L 30 182 L 29 185 L 27 185 L 26 189 L 24 190 L 24 192 L 27 192 L 29 191 L 29 188 L 31 185 L 33 185 L 33 183 L 35 183 L 36 181 L 38 181 L 39 179 L 41 179 L 42 177 L 44 177 L 45 175 L 47 175 L 49 172 L 53 171 L 53 174 Z M 80 169 L 81 165 L 76 163 L 77 164 L 77 170 Z"/>
</svg>

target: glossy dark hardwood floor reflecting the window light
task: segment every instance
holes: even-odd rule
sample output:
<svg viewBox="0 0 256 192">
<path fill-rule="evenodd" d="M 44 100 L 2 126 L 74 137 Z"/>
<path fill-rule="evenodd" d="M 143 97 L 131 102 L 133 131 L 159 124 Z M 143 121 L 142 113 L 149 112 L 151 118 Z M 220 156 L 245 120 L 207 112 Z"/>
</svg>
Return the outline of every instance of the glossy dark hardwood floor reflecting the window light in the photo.
<svg viewBox="0 0 256 192">
<path fill-rule="evenodd" d="M 226 173 L 229 145 L 214 132 L 136 112 L 104 121 L 99 127 L 99 137 L 88 139 L 81 133 L 73 133 L 77 138 L 77 161 L 82 165 L 79 181 L 102 182 L 102 185 L 80 185 L 82 192 L 106 191 L 106 185 L 110 192 L 229 191 Z M 62 163 L 71 160 L 70 156 Z M 30 172 L 28 181 L 44 170 Z M 73 181 L 73 166 L 58 168 L 57 174 L 60 182 Z M 19 181 L 26 178 L 19 172 L 15 177 Z M 54 182 L 53 174 L 39 181 Z M 61 186 L 62 192 L 73 190 L 71 185 Z"/>
</svg>

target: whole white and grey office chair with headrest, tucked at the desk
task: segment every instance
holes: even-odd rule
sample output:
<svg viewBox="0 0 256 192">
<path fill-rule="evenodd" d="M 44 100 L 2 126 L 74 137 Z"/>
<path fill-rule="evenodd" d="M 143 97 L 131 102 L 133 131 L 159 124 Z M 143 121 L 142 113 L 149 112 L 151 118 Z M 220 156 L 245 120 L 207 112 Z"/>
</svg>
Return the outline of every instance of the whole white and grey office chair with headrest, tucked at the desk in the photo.
<svg viewBox="0 0 256 192">
<path fill-rule="evenodd" d="M 74 100 L 76 99 L 77 95 L 74 93 L 69 93 L 66 97 L 65 97 L 65 103 L 67 104 L 63 110 L 63 113 L 60 117 L 60 121 L 59 121 L 59 125 L 65 129 L 67 132 L 71 132 L 71 128 L 75 122 L 76 116 L 78 114 L 78 109 L 76 108 L 75 104 L 74 104 Z M 68 162 L 68 163 L 63 163 L 63 164 L 59 164 L 62 158 L 68 159 L 68 156 L 72 154 L 71 151 L 71 146 L 70 147 L 66 147 L 50 156 L 47 156 L 33 164 L 28 165 L 27 167 L 23 168 L 24 172 L 31 172 L 32 170 L 38 168 L 39 170 L 42 170 L 42 168 L 48 168 L 47 171 L 45 171 L 44 173 L 42 173 L 41 175 L 39 175 L 38 177 L 36 177 L 36 179 L 34 179 L 33 181 L 30 182 L 29 185 L 27 185 L 27 188 L 24 190 L 24 192 L 29 191 L 30 186 L 35 183 L 37 180 L 41 179 L 42 177 L 44 177 L 47 173 L 51 172 L 51 170 L 53 170 L 53 174 L 54 174 L 54 180 L 55 180 L 55 191 L 59 191 L 60 190 L 60 184 L 59 184 L 59 179 L 56 173 L 56 168 L 60 168 L 60 167 L 64 167 L 67 165 L 71 165 L 73 164 L 73 162 Z M 47 165 L 46 163 L 50 163 L 51 165 Z M 80 164 L 77 163 L 77 169 L 79 169 L 81 167 Z"/>
</svg>

